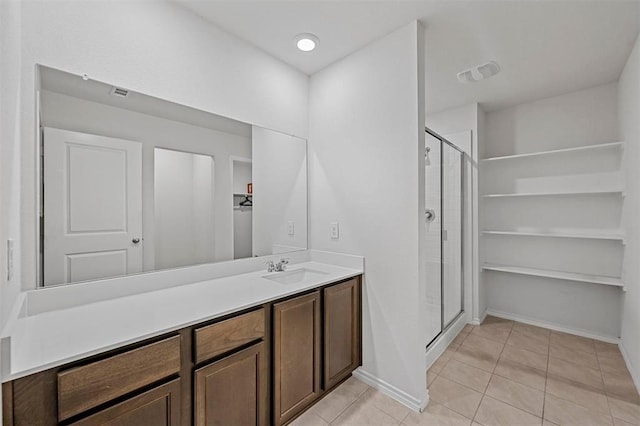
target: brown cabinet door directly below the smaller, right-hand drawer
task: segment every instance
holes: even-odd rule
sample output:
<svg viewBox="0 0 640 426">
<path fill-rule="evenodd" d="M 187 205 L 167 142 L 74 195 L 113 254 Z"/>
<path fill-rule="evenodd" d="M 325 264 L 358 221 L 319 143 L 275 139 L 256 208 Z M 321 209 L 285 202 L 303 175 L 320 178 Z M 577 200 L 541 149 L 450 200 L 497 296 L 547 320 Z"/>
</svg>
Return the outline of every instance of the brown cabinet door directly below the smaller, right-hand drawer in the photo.
<svg viewBox="0 0 640 426">
<path fill-rule="evenodd" d="M 264 342 L 195 372 L 196 426 L 266 426 Z"/>
</svg>

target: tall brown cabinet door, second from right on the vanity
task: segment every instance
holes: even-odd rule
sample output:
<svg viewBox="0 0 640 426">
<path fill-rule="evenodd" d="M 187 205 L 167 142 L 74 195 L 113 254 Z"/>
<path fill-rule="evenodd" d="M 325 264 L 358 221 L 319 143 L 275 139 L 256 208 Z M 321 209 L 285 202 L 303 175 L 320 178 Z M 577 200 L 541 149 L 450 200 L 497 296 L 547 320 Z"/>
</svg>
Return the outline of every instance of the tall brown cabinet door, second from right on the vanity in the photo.
<svg viewBox="0 0 640 426">
<path fill-rule="evenodd" d="M 273 305 L 274 423 L 320 394 L 320 292 Z"/>
</svg>

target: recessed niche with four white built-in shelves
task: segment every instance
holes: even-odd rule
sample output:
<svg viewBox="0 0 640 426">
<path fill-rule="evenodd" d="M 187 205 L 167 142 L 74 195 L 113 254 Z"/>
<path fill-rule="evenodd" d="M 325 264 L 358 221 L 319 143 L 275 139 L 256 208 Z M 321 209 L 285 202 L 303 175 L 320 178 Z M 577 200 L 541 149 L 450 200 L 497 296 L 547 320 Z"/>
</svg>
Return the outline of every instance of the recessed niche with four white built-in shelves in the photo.
<svg viewBox="0 0 640 426">
<path fill-rule="evenodd" d="M 483 270 L 622 287 L 623 149 L 481 160 Z"/>
</svg>

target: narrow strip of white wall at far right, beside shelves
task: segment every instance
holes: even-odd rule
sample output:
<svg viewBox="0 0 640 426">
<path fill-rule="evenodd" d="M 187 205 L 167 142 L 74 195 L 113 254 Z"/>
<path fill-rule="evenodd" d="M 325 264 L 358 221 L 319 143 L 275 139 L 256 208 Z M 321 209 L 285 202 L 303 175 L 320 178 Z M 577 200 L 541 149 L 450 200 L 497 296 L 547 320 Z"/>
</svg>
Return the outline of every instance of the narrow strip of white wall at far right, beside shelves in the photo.
<svg viewBox="0 0 640 426">
<path fill-rule="evenodd" d="M 622 277 L 627 292 L 622 316 L 622 348 L 640 388 L 640 38 L 618 83 L 620 138 L 625 143 L 626 190 L 623 221 L 627 235 Z"/>
</svg>

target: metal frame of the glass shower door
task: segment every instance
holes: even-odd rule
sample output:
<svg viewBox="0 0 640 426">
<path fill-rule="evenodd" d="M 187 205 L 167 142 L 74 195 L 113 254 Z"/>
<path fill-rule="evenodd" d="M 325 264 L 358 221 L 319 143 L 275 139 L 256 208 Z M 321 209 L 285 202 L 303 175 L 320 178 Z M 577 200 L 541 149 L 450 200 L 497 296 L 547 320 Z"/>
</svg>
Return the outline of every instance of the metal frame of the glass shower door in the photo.
<svg viewBox="0 0 640 426">
<path fill-rule="evenodd" d="M 438 133 L 434 132 L 433 130 L 429 129 L 428 127 L 425 126 L 424 128 L 425 132 L 428 133 L 429 135 L 433 136 L 434 138 L 438 139 L 440 141 L 440 332 L 438 334 L 436 334 L 433 339 L 431 339 L 431 341 L 429 341 L 429 343 L 427 344 L 427 348 L 433 343 L 435 342 L 438 337 L 440 337 L 442 335 L 442 333 L 445 332 L 445 330 L 447 330 L 453 323 L 456 322 L 456 320 L 458 318 L 460 318 L 460 316 L 462 316 L 465 313 L 464 310 L 464 231 L 465 231 L 465 226 L 464 226 L 464 207 L 465 207 L 465 203 L 464 203 L 464 196 L 465 196 L 465 191 L 464 191 L 464 179 L 465 179 L 465 172 L 464 172 L 464 160 L 467 157 L 467 154 L 460 149 L 459 147 L 457 147 L 456 145 L 454 145 L 452 142 L 448 141 L 446 138 L 440 136 Z M 451 320 L 449 321 L 448 324 L 444 323 L 444 239 L 443 239 L 443 231 L 444 231 L 444 191 L 443 191 L 443 178 L 444 178 L 444 167 L 443 167 L 443 159 L 444 159 L 444 149 L 443 148 L 443 143 L 447 144 L 449 147 L 453 148 L 454 150 L 458 151 L 458 153 L 460 153 L 460 312 L 458 312 L 458 314 Z"/>
</svg>

